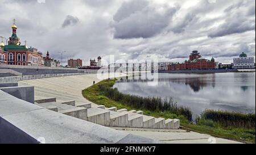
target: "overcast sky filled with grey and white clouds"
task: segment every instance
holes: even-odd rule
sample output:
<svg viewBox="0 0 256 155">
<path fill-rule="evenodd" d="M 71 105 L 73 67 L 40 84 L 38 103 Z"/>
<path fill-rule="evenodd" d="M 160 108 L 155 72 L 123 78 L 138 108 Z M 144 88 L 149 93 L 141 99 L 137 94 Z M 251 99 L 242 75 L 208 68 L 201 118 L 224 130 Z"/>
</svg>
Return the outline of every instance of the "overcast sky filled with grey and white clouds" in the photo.
<svg viewBox="0 0 256 155">
<path fill-rule="evenodd" d="M 22 44 L 84 65 L 108 55 L 182 62 L 193 50 L 220 62 L 255 56 L 254 0 L 0 0 L 0 36 L 14 18 Z"/>
</svg>

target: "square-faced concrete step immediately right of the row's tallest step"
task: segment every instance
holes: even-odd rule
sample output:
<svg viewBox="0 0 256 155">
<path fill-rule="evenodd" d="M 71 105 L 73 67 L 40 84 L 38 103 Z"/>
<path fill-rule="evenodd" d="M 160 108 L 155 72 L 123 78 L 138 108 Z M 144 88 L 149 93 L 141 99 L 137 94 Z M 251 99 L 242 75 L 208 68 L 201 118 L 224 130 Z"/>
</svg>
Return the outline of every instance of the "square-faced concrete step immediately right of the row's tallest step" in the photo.
<svg viewBox="0 0 256 155">
<path fill-rule="evenodd" d="M 110 111 L 110 127 L 127 127 L 128 114 Z"/>
</svg>

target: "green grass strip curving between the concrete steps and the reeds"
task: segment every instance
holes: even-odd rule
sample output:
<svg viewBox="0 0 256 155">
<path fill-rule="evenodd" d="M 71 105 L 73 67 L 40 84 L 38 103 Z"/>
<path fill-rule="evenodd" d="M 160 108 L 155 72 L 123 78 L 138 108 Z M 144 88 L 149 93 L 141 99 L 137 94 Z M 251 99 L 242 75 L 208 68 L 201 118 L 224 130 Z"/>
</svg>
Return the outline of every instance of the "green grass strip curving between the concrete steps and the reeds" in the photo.
<svg viewBox="0 0 256 155">
<path fill-rule="evenodd" d="M 115 80 L 104 80 L 96 85 L 88 87 L 87 89 L 82 91 L 82 95 L 90 100 L 93 103 L 99 105 L 105 105 L 106 107 L 117 107 L 118 109 L 127 108 L 127 110 L 142 110 L 144 115 L 154 116 L 155 118 L 177 118 L 180 119 L 181 125 L 184 129 L 189 131 L 195 131 L 200 133 L 206 133 L 212 136 L 221 137 L 230 140 L 241 141 L 243 143 L 255 143 L 255 129 L 245 129 L 245 128 L 224 128 L 224 127 L 209 127 L 207 125 L 195 125 L 189 124 L 188 121 L 184 118 L 184 116 L 177 116 L 175 114 L 170 114 L 170 112 L 156 112 L 156 111 L 148 111 L 144 109 L 137 109 L 131 106 L 127 106 L 120 102 L 116 102 L 115 100 L 109 99 L 105 97 L 98 87 L 98 85 L 106 85 L 112 87 L 114 85 Z"/>
</svg>

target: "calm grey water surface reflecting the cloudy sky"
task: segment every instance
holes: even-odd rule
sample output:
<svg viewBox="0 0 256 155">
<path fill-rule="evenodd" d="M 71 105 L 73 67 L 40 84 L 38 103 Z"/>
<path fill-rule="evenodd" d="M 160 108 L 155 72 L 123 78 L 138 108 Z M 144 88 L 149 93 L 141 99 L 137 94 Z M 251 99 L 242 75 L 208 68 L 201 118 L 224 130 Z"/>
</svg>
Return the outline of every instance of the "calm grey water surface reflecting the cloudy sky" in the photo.
<svg viewBox="0 0 256 155">
<path fill-rule="evenodd" d="M 205 108 L 255 112 L 255 73 L 159 74 L 158 85 L 117 82 L 123 93 L 173 97 L 195 114 Z"/>
</svg>

